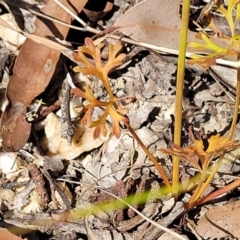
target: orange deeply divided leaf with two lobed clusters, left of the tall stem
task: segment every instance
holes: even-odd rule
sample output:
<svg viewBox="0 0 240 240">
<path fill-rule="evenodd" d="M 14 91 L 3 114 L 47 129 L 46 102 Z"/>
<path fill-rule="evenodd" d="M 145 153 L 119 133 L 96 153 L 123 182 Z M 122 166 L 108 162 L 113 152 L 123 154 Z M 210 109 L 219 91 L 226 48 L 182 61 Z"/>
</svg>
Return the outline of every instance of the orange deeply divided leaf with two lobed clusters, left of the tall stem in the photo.
<svg viewBox="0 0 240 240">
<path fill-rule="evenodd" d="M 120 137 L 120 122 L 128 122 L 128 118 L 124 116 L 126 113 L 125 107 L 121 104 L 121 99 L 114 97 L 111 90 L 108 74 L 109 72 L 122 64 L 122 60 L 125 58 L 125 54 L 118 55 L 118 52 L 121 50 L 122 46 L 120 42 L 116 44 L 109 45 L 109 58 L 106 63 L 103 63 L 101 60 L 102 44 L 99 46 L 94 46 L 92 39 L 86 38 L 85 45 L 78 48 L 78 54 L 74 54 L 76 61 L 80 62 L 82 65 L 74 68 L 76 72 L 82 72 L 84 75 L 95 75 L 102 81 L 103 86 L 105 87 L 108 95 L 109 101 L 103 102 L 95 98 L 92 89 L 89 86 L 86 86 L 85 91 L 81 89 L 72 89 L 72 93 L 75 96 L 82 97 L 86 99 L 89 103 L 83 107 L 85 112 L 84 117 L 82 118 L 81 124 L 85 126 L 89 123 L 89 127 L 94 129 L 94 139 L 98 138 L 100 134 L 104 136 L 107 135 L 106 121 L 107 117 L 110 116 L 112 121 L 112 132 L 116 137 Z M 88 54 L 92 59 L 88 59 L 85 55 Z M 91 62 L 94 60 L 93 62 Z M 103 114 L 97 120 L 92 120 L 92 112 L 95 107 L 104 108 Z"/>
</svg>

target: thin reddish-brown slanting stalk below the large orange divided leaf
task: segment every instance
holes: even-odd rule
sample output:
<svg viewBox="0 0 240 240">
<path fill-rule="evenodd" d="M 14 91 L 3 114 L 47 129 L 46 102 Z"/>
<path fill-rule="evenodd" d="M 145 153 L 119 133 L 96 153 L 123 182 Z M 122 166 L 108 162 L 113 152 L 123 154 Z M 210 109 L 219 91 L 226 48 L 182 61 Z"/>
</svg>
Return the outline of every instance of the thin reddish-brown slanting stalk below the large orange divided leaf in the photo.
<svg viewBox="0 0 240 240">
<path fill-rule="evenodd" d="M 138 137 L 138 135 L 135 133 L 135 131 L 132 129 L 129 123 L 124 123 L 125 126 L 128 128 L 134 139 L 138 142 L 138 144 L 141 146 L 143 151 L 147 154 L 147 156 L 150 158 L 150 160 L 153 162 L 153 164 L 156 166 L 158 169 L 159 173 L 161 174 L 161 177 L 163 178 L 164 183 L 166 184 L 167 188 L 171 188 L 170 182 L 168 180 L 167 174 L 164 171 L 164 169 L 159 165 L 158 161 L 156 158 L 149 152 L 149 150 L 146 148 L 144 143 L 141 141 L 141 139 Z"/>
</svg>

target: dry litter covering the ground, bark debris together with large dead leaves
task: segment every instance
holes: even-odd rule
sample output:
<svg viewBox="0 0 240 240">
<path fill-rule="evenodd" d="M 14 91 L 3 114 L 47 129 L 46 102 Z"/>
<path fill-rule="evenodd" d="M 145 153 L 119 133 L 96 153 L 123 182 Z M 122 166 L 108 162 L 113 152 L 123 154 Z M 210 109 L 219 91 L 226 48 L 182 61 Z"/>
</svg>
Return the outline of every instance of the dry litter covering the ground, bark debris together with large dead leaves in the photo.
<svg viewBox="0 0 240 240">
<path fill-rule="evenodd" d="M 80 11 L 86 1 L 78 2 L 79 9 L 77 7 L 73 10 Z M 67 4 L 67 1 L 64 3 Z M 37 6 L 39 1 L 33 1 L 31 4 Z M 74 4 L 78 4 L 77 1 Z M 105 5 L 103 8 L 99 4 L 100 10 L 84 9 L 84 13 L 91 24 L 100 19 L 98 23 L 102 26 L 114 24 L 118 31 L 135 40 L 177 49 L 180 1 L 161 1 L 165 9 L 161 15 L 156 7 L 160 3 L 152 0 L 143 1 L 136 6 L 134 6 L 134 1 L 116 0 L 114 4 L 120 8 L 115 11 L 112 18 L 111 16 L 105 18 L 105 22 L 100 18 L 110 11 L 111 4 Z M 49 6 L 46 14 L 54 17 L 53 13 L 58 5 Z M 130 10 L 123 14 L 126 7 Z M 68 8 L 71 9 L 70 6 Z M 44 10 L 42 12 L 44 13 Z M 166 17 L 164 12 L 173 15 Z M 55 17 L 71 23 L 69 16 L 65 15 L 64 11 L 61 13 L 64 13 L 66 19 L 63 14 Z M 122 17 L 116 18 L 121 14 Z M 12 18 L 10 11 L 9 19 Z M 166 19 L 171 19 L 171 21 L 166 21 Z M 44 32 L 39 27 L 42 24 L 41 21 L 37 21 L 39 23 L 34 34 L 41 37 L 52 35 L 52 33 Z M 13 22 L 13 24 L 15 23 Z M 149 24 L 153 26 L 149 27 Z M 57 29 L 61 31 L 61 25 L 57 25 Z M 4 48 L 8 51 L 19 49 L 19 36 L 21 35 L 17 32 L 14 33 L 16 42 L 10 43 L 15 47 L 13 49 L 13 46 L 7 42 L 9 37 L 5 37 L 6 28 L 3 31 L 0 35 Z M 64 30 L 63 38 L 66 37 L 67 31 L 67 29 Z M 7 34 L 12 36 L 12 33 Z M 184 214 L 184 217 L 191 218 L 197 224 L 195 231 L 192 231 L 193 226 L 189 227 L 185 224 L 183 217 L 183 205 L 186 203 L 187 195 L 179 202 L 175 202 L 171 196 L 154 196 L 154 190 L 161 188 L 159 183 L 162 181 L 157 177 L 159 173 L 126 128 L 124 129 L 120 125 L 121 131 L 119 128 L 116 130 L 117 134 L 113 135 L 111 119 L 106 118 L 105 129 L 98 129 L 105 133 L 105 137 L 101 136 L 100 132 L 96 132 L 96 128 L 89 128 L 81 124 L 83 109 L 87 103 L 74 102 L 74 99 L 71 98 L 69 99 L 71 104 L 67 101 L 63 103 L 69 104 L 70 110 L 63 106 L 60 115 L 51 112 L 45 119 L 41 117 L 41 111 L 54 106 L 58 100 L 57 96 L 61 95 L 57 93 L 57 91 L 61 91 L 61 83 L 55 87 L 54 82 L 50 81 L 51 76 L 56 74 L 54 71 L 60 52 L 40 45 L 39 42 L 44 42 L 42 38 L 24 35 L 38 43 L 33 42 L 30 38 L 25 41 L 14 65 L 14 74 L 9 80 L 7 89 L 4 89 L 9 101 L 2 113 L 1 120 L 2 144 L 4 150 L 7 151 L 0 155 L 0 203 L 3 214 L 0 231 L 1 236 L 5 237 L 4 239 L 22 239 L 21 237 L 28 239 L 31 237 L 38 239 L 168 239 L 166 233 L 163 234 L 161 229 L 150 225 L 146 219 L 136 214 L 131 208 L 123 209 L 113 206 L 111 209 L 102 210 L 99 206 L 96 211 L 88 210 L 89 206 L 95 206 L 97 203 L 101 205 L 115 200 L 114 196 L 120 198 L 131 194 L 137 196 L 145 191 L 149 191 L 146 202 L 133 203 L 132 206 L 146 217 L 170 230 L 179 231 L 181 229 L 179 232 L 182 232 L 182 236 L 179 235 L 179 237 L 185 239 L 197 239 L 196 236 L 201 236 L 203 239 L 239 237 L 239 228 L 235 224 L 238 222 L 237 217 L 235 218 L 239 208 L 238 201 L 228 203 L 229 198 L 238 200 L 237 189 L 235 195 L 232 193 L 216 203 L 197 207 L 194 211 Z M 78 35 L 85 37 L 84 32 L 78 32 Z M 189 39 L 193 34 L 190 33 L 190 35 Z M 47 39 L 44 44 L 48 43 Z M 79 45 L 83 43 L 82 41 Z M 55 45 L 52 44 L 52 46 Z M 61 50 L 66 50 L 59 44 L 56 46 L 59 46 Z M 127 50 L 125 50 L 127 53 L 129 47 L 133 48 L 133 46 L 127 46 Z M 42 49 L 45 49 L 44 52 Z M 26 54 L 22 52 L 26 52 Z M 53 62 L 49 62 L 49 59 L 52 58 L 54 58 Z M 47 65 L 44 65 L 45 61 L 47 61 Z M 91 66 L 91 62 L 89 66 Z M 7 61 L 2 66 L 2 68 L 9 68 L 9 71 L 12 70 L 11 67 Z M 45 71 L 43 75 L 42 68 Z M 59 67 L 57 66 L 57 68 Z M 63 67 L 60 69 L 63 75 L 66 74 Z M 21 71 L 23 76 L 18 74 L 18 71 Z M 91 72 L 91 69 L 86 71 Z M 223 70 L 220 69 L 220 71 Z M 6 71 L 3 74 L 7 78 Z M 72 72 L 71 75 L 73 75 Z M 102 84 L 94 76 L 90 78 L 81 76 L 80 78 L 80 81 L 73 80 L 77 88 L 82 91 L 82 89 L 86 89 L 86 85 L 89 85 L 96 94 L 94 95 L 96 99 L 101 98 L 106 101 L 107 94 L 104 92 Z M 36 82 L 33 83 L 33 81 Z M 138 54 L 123 67 L 110 73 L 110 86 L 115 96 L 118 98 L 134 96 L 138 100 L 137 102 L 130 101 L 130 104 L 126 105 L 129 121 L 140 139 L 158 158 L 169 175 L 171 174 L 171 159 L 158 150 L 167 147 L 173 147 L 174 151 L 178 150 L 178 147 L 172 145 L 175 81 L 176 57 L 160 55 L 144 48 L 140 49 Z M 49 83 L 50 87 L 47 88 Z M 78 94 L 80 90 L 78 90 Z M 196 132 L 201 129 L 200 127 L 204 128 L 210 141 L 211 138 L 214 138 L 211 135 L 224 131 L 229 124 L 233 104 L 224 94 L 222 86 L 211 79 L 206 72 L 196 71 L 194 66 L 187 65 L 184 91 L 183 142 L 188 145 L 184 148 L 184 154 L 189 155 L 189 151 L 192 150 L 189 147 L 192 144 L 189 137 L 189 124 L 194 127 Z M 75 90 L 74 94 L 76 93 Z M 80 97 L 82 97 L 81 94 L 79 94 Z M 91 94 L 88 97 L 90 99 Z M 85 98 L 89 100 L 86 96 Z M 29 105 L 34 109 L 32 112 L 40 115 L 39 119 L 34 119 L 33 122 L 27 122 L 25 117 L 26 112 L 30 109 Z M 66 111 L 77 112 L 71 119 L 71 124 L 74 126 L 71 144 L 62 137 L 61 121 Z M 102 109 L 93 111 L 96 119 L 102 114 Z M 92 127 L 94 127 L 93 125 Z M 100 137 L 97 138 L 98 134 Z M 194 132 L 194 134 L 197 133 Z M 237 125 L 234 139 L 238 139 L 238 135 L 239 125 Z M 224 140 L 224 138 L 220 139 Z M 211 142 L 209 145 L 211 146 Z M 197 150 L 199 150 L 198 147 L 196 147 Z M 20 150 L 18 154 L 15 153 L 18 150 Z M 198 153 L 201 155 L 201 151 Z M 239 171 L 238 159 L 238 148 L 225 155 L 226 163 L 222 165 L 205 194 L 207 191 L 211 192 L 233 180 Z M 202 166 L 199 164 L 196 163 L 194 166 L 201 171 Z M 188 179 L 195 171 L 196 169 L 182 162 L 183 179 Z M 151 192 L 153 192 L 153 196 Z M 114 196 L 110 196 L 110 194 Z M 224 207 L 218 206 L 223 204 Z M 86 208 L 85 219 L 80 217 L 83 215 L 78 212 L 78 208 L 81 207 Z M 211 210 L 206 211 L 206 208 Z M 234 214 L 232 209 L 234 209 Z M 204 212 L 206 212 L 205 215 L 203 215 Z M 173 224 L 174 221 L 180 224 L 178 229 Z M 14 225 L 14 229 L 10 227 L 11 225 Z M 33 230 L 37 230 L 37 232 L 31 234 L 30 232 Z M 171 237 L 173 239 L 172 235 Z"/>
</svg>

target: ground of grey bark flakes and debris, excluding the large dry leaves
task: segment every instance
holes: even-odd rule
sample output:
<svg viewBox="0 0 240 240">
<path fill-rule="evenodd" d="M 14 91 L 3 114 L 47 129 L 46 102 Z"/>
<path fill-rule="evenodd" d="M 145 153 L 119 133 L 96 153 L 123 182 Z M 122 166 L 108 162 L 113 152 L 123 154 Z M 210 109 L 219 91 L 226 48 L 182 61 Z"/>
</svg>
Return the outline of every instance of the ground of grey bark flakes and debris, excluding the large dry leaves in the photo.
<svg viewBox="0 0 240 240">
<path fill-rule="evenodd" d="M 102 2 L 105 1 L 99 1 L 99 3 L 95 1 L 95 7 L 97 8 L 97 5 L 101 5 Z M 44 6 L 37 0 L 29 0 L 22 4 L 27 8 L 30 5 Z M 95 22 L 92 25 L 94 28 L 106 29 L 112 26 L 123 13 L 136 4 L 136 1 L 115 0 L 113 4 L 110 13 L 101 17 L 97 24 Z M 25 31 L 26 29 L 31 31 L 30 29 L 34 28 L 32 14 L 11 4 L 7 4 L 8 12 L 4 6 L 6 5 L 1 5 L 1 16 L 8 14 L 10 19 L 11 16 L 14 15 L 16 18 L 21 13 L 22 26 L 19 27 Z M 92 10 L 92 13 L 96 14 L 96 12 L 103 11 Z M 85 13 L 87 15 L 85 17 L 91 16 L 89 12 Z M 87 18 L 84 20 L 87 21 Z M 0 29 L 0 31 L 4 30 Z M 7 44 L 4 34 L 0 35 L 2 38 L 0 91 L 3 106 L 6 105 L 4 94 L 14 71 L 15 57 L 20 53 L 18 46 L 14 48 L 12 44 Z M 91 36 L 86 32 L 72 31 L 68 41 L 74 42 L 76 47 L 83 45 L 85 37 Z M 14 37 L 16 36 L 10 35 L 7 38 Z M 109 82 L 112 91 L 117 97 L 136 98 L 135 102 L 127 105 L 130 124 L 171 179 L 172 159 L 159 149 L 169 148 L 173 142 L 177 56 L 160 54 L 130 44 L 125 45 L 124 51 L 131 58 L 110 73 Z M 37 53 L 33 51 L 32 55 L 34 54 Z M 61 57 L 50 84 L 43 93 L 39 92 L 35 100 L 32 99 L 31 106 L 27 108 L 28 117 L 30 113 L 36 113 L 35 109 L 39 104 L 41 105 L 41 112 L 38 112 L 40 116 L 42 111 L 48 111 L 48 114 L 30 121 L 31 136 L 21 150 L 0 153 L 2 215 L 0 240 L 178 239 L 171 233 L 152 225 L 131 208 L 122 209 L 115 206 L 103 210 L 100 207 L 103 203 L 115 200 L 114 196 L 124 198 L 130 194 L 151 192 L 161 188 L 163 181 L 156 167 L 124 125 L 121 125 L 121 136 L 117 138 L 111 134 L 111 121 L 108 121 L 107 135 L 94 140 L 94 129 L 82 127 L 80 124 L 82 115 L 76 110 L 78 104 L 81 104 L 79 99 L 71 96 L 67 102 L 62 100 L 61 104 L 56 105 L 58 100 L 63 99 L 62 94 L 66 97 L 64 95 L 66 90 L 62 87 L 66 76 L 64 66 L 71 73 L 78 87 L 89 84 L 95 97 L 107 99 L 99 79 L 79 73 L 73 74 L 71 69 L 75 66 L 74 63 L 66 57 Z M 28 69 L 25 70 L 28 71 Z M 216 133 L 221 135 L 227 133 L 233 115 L 235 83 L 233 81 L 226 86 L 223 82 L 228 81 L 229 78 L 232 80 L 234 74 L 233 70 L 219 66 L 203 71 L 196 66 L 186 65 L 183 90 L 183 146 L 192 144 L 192 139 L 189 137 L 191 133 L 204 134 L 206 137 Z M 35 76 L 32 76 L 32 79 L 34 81 Z M 32 88 L 35 88 L 34 82 L 25 82 L 24 87 L 28 88 L 27 84 L 32 84 Z M 15 89 L 16 92 L 22 91 L 23 97 L 28 94 L 27 90 L 24 93 L 24 87 Z M 11 94 L 13 96 L 15 93 Z M 71 121 L 75 129 L 72 144 L 62 138 L 61 128 L 61 123 L 63 124 L 61 111 L 64 112 L 64 107 L 69 104 L 69 101 L 71 102 Z M 55 105 L 57 107 L 53 111 L 49 110 Z M 62 110 L 59 111 L 61 107 Z M 93 112 L 96 118 L 101 114 L 100 108 Z M 24 141 L 21 132 L 15 132 L 15 134 L 16 139 Z M 240 124 L 238 123 L 233 139 L 239 140 L 239 135 Z M 238 148 L 226 155 L 227 164 L 222 164 L 204 195 L 237 178 L 240 171 L 239 156 Z M 182 181 L 190 179 L 195 173 L 196 169 L 181 161 Z M 182 194 L 178 201 L 170 194 L 157 199 L 151 199 L 149 196 L 145 204 L 134 207 L 146 217 L 185 239 L 240 237 L 239 214 L 236 213 L 240 209 L 238 189 L 210 203 L 184 212 L 181 209 L 189 196 L 190 193 Z M 78 210 L 91 209 L 91 206 L 96 206 L 99 210 L 94 214 L 90 211 L 83 214 L 81 212 L 83 210 Z M 227 225 L 228 227 L 223 227 L 224 229 L 218 227 L 218 223 L 222 226 L 220 222 L 224 227 Z M 9 235 L 5 233 L 6 229 Z M 6 234 L 5 238 L 1 238 L 2 233 Z"/>
</svg>

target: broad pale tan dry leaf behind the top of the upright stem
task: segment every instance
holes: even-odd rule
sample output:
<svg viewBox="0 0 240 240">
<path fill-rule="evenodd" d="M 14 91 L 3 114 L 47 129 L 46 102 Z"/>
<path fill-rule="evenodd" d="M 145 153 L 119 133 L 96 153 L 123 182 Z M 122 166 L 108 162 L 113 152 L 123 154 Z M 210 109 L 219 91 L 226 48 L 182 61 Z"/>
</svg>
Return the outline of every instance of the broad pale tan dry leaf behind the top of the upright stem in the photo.
<svg viewBox="0 0 240 240">
<path fill-rule="evenodd" d="M 145 0 L 123 14 L 114 26 L 134 40 L 158 47 L 178 50 L 180 34 L 180 0 Z M 200 42 L 196 33 L 188 31 L 188 42 Z M 213 38 L 216 44 L 226 46 L 225 40 Z M 191 49 L 188 49 L 192 52 Z"/>
</svg>

